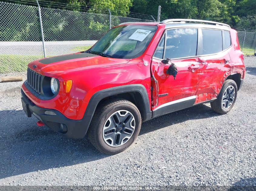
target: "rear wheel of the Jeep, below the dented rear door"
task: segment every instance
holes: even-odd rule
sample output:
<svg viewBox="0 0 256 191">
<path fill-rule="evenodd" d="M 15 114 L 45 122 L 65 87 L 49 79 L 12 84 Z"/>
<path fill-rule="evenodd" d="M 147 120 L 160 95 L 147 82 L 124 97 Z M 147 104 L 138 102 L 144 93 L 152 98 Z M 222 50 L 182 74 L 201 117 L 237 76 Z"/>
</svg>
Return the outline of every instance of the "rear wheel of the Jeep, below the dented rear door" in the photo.
<svg viewBox="0 0 256 191">
<path fill-rule="evenodd" d="M 228 89 L 229 93 L 227 92 L 227 89 Z M 234 94 L 233 94 L 233 90 L 234 90 Z M 223 83 L 223 86 L 221 88 L 221 91 L 220 91 L 217 99 L 214 100 L 213 102 L 211 102 L 211 108 L 217 113 L 226 114 L 234 106 L 236 97 L 237 97 L 237 85 L 236 85 L 235 81 L 234 80 L 226 80 Z M 224 101 L 222 102 L 222 100 L 224 100 Z"/>
</svg>

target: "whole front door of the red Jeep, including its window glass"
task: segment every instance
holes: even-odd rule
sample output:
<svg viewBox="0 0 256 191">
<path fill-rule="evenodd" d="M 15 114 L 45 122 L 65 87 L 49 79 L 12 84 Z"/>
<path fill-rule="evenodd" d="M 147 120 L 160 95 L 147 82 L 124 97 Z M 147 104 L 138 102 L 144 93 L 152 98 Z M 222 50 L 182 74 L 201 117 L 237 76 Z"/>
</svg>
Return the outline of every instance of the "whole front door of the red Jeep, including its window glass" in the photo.
<svg viewBox="0 0 256 191">
<path fill-rule="evenodd" d="M 154 117 L 194 104 L 201 67 L 197 44 L 196 28 L 167 30 L 161 38 L 151 63 L 152 109 L 162 109 L 153 111 Z M 164 64 L 162 60 L 166 58 L 171 61 Z M 175 78 L 166 73 L 171 63 L 178 70 Z"/>
</svg>

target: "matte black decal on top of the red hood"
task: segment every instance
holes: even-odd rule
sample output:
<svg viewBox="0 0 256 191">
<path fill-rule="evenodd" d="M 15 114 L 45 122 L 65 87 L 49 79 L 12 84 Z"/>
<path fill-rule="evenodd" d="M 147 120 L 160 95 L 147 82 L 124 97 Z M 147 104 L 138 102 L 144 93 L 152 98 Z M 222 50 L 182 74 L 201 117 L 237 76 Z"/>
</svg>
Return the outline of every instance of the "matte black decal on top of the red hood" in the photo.
<svg viewBox="0 0 256 191">
<path fill-rule="evenodd" d="M 42 64 L 51 64 L 54 62 L 60 62 L 64 60 L 71 60 L 71 59 L 76 59 L 76 58 L 86 58 L 86 57 L 92 57 L 92 56 L 97 56 L 95 54 L 89 54 L 89 53 L 78 53 L 78 54 L 66 54 L 62 56 L 54 56 L 51 58 L 46 58 L 39 60 Z"/>
</svg>

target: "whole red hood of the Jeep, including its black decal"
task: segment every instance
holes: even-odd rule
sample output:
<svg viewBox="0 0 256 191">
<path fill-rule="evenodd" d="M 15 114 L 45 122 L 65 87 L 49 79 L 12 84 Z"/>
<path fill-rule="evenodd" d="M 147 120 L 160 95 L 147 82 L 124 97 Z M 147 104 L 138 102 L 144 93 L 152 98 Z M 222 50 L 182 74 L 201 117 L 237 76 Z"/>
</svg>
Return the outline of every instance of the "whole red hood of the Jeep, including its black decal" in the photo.
<svg viewBox="0 0 256 191">
<path fill-rule="evenodd" d="M 28 67 L 42 75 L 61 75 L 68 72 L 127 62 L 129 62 L 129 59 L 108 58 L 89 53 L 75 53 L 35 60 L 30 62 Z"/>
</svg>

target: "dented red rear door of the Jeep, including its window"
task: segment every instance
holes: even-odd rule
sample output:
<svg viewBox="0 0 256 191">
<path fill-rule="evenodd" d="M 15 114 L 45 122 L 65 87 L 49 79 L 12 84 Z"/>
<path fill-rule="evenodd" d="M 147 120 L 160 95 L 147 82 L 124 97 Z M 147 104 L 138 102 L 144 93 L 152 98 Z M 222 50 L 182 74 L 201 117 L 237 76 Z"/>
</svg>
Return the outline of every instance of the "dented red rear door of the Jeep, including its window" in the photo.
<svg viewBox="0 0 256 191">
<path fill-rule="evenodd" d="M 201 35 L 200 35 L 201 34 Z M 205 94 L 198 102 L 211 99 L 219 93 L 225 76 L 232 67 L 229 50 L 231 48 L 230 34 L 225 30 L 199 29 L 201 36 L 201 65 L 200 83 L 197 94 Z M 226 37 L 226 39 L 225 39 Z M 207 95 L 206 95 L 207 94 Z"/>
</svg>

